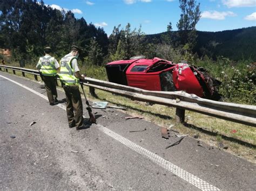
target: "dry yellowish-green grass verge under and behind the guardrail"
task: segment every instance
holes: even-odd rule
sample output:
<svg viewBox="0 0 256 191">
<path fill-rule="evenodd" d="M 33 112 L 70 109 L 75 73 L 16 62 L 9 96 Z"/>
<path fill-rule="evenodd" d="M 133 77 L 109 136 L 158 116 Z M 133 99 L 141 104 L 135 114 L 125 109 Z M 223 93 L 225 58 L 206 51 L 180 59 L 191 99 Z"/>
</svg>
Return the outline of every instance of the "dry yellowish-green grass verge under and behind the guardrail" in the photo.
<svg viewBox="0 0 256 191">
<path fill-rule="evenodd" d="M 32 67 L 27 68 L 35 69 Z M 86 71 L 85 73 L 89 77 L 102 80 L 106 79 L 104 67 L 82 67 L 81 71 L 82 73 L 83 71 Z M 12 74 L 12 71 L 9 70 L 9 73 Z M 100 74 L 100 77 L 97 77 L 99 76 L 98 73 Z M 21 72 L 16 72 L 16 75 L 21 76 L 22 74 Z M 32 74 L 25 74 L 25 76 L 34 79 Z M 38 76 L 38 80 L 39 79 L 40 77 Z M 88 94 L 89 88 L 86 87 L 85 91 L 86 94 Z M 109 102 L 110 105 L 122 105 L 128 108 L 127 111 L 125 111 L 127 114 L 132 116 L 142 116 L 146 121 L 164 127 L 174 125 L 174 129 L 178 130 L 180 133 L 188 134 L 192 137 L 194 135 L 199 135 L 200 140 L 215 147 L 218 147 L 218 144 L 221 142 L 225 146 L 228 146 L 228 152 L 256 163 L 254 157 L 256 155 L 256 129 L 251 126 L 225 121 L 223 119 L 198 114 L 197 112 L 192 111 L 185 112 L 186 125 L 176 124 L 174 119 L 176 108 L 132 101 L 130 98 L 114 95 L 97 89 L 95 92 L 97 98 L 89 94 L 87 95 L 91 101 L 104 100 Z"/>
</svg>

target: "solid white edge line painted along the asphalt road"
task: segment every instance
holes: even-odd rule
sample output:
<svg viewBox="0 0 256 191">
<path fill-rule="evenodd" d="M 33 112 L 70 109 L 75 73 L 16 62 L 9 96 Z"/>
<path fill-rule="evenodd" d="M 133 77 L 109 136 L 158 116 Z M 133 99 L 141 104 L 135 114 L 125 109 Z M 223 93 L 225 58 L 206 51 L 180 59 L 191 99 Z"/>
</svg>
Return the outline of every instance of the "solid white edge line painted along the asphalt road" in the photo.
<svg viewBox="0 0 256 191">
<path fill-rule="evenodd" d="M 18 83 L 14 80 L 11 80 L 11 79 L 9 79 L 7 77 L 4 77 L 4 76 L 1 76 L 1 75 L 0 75 L 0 77 L 3 77 L 4 79 L 9 80 L 11 82 L 14 82 L 18 86 L 21 86 L 21 87 L 31 91 L 32 93 L 44 98 L 45 100 L 48 100 L 48 97 L 38 93 L 37 91 L 35 91 L 31 88 L 28 88 L 28 87 L 24 86 L 21 83 Z M 62 108 L 64 110 L 66 110 L 66 107 L 62 104 L 58 104 L 57 106 L 59 108 Z M 110 129 L 105 128 L 103 125 L 97 124 L 97 127 L 100 131 L 104 132 L 106 135 L 116 139 L 118 142 L 120 142 L 120 143 L 124 144 L 125 146 L 131 148 L 131 150 L 146 156 L 147 158 L 149 158 L 150 160 L 152 160 L 153 162 L 155 162 L 159 166 L 167 169 L 168 171 L 170 171 L 173 174 L 179 176 L 181 179 L 191 183 L 192 185 L 196 186 L 197 188 L 199 188 L 201 190 L 220 190 L 219 188 L 216 188 L 216 187 L 212 186 L 210 183 L 198 178 L 197 176 L 195 176 L 191 173 L 188 173 L 184 169 L 182 169 L 182 168 L 180 168 L 176 165 L 173 165 L 171 162 L 159 157 L 157 154 L 154 154 L 154 153 L 146 150 L 145 148 L 137 145 L 136 143 L 131 142 L 129 139 L 126 139 L 125 137 L 122 137 L 122 136 L 118 135 L 117 133 L 111 131 Z"/>
</svg>

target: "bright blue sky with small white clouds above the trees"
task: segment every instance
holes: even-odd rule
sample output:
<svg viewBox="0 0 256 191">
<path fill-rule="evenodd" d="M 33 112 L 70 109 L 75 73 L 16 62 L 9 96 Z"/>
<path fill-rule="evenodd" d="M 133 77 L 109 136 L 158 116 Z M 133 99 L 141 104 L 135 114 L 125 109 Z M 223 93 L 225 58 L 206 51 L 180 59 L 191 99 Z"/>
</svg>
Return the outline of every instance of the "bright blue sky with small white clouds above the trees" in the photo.
<svg viewBox="0 0 256 191">
<path fill-rule="evenodd" d="M 256 26 L 256 0 L 196 0 L 200 3 L 199 31 L 224 31 Z M 45 0 L 55 9 L 71 10 L 76 18 L 104 28 L 110 35 L 113 27 L 127 23 L 132 29 L 142 25 L 146 34 L 174 31 L 180 18 L 179 0 Z"/>
</svg>

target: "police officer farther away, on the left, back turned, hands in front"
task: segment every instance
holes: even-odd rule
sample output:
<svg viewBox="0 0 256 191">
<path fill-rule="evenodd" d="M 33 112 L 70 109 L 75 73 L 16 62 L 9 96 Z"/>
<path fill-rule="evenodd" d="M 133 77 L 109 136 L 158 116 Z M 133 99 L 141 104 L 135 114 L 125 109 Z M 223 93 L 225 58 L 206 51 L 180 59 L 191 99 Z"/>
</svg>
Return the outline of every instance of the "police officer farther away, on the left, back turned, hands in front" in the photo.
<svg viewBox="0 0 256 191">
<path fill-rule="evenodd" d="M 39 58 L 36 68 L 41 72 L 41 78 L 44 81 L 50 105 L 58 104 L 57 90 L 56 90 L 56 75 L 59 70 L 58 61 L 50 55 L 51 48 L 44 48 L 45 55 Z"/>
</svg>

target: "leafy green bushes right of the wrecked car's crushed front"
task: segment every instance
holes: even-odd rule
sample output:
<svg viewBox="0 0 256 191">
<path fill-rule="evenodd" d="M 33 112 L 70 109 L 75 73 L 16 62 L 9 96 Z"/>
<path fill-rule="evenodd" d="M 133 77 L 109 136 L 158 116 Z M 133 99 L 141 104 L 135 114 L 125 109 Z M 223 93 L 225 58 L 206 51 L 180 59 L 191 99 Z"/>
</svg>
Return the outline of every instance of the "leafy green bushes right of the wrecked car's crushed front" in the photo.
<svg viewBox="0 0 256 191">
<path fill-rule="evenodd" d="M 204 59 L 198 65 L 206 68 L 209 73 L 222 82 L 219 92 L 223 101 L 256 104 L 255 95 L 255 63 L 248 60 L 232 62 L 220 57 L 217 61 Z"/>
</svg>

